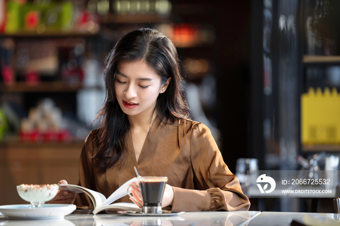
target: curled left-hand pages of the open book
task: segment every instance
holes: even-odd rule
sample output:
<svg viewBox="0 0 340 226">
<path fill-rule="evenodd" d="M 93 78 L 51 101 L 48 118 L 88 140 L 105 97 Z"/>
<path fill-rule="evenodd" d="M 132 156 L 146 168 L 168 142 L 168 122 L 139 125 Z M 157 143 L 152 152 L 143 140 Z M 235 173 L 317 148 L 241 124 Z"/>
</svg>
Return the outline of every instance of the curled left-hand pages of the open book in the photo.
<svg viewBox="0 0 340 226">
<path fill-rule="evenodd" d="M 74 185 L 74 184 L 60 184 L 59 190 L 67 191 L 67 192 L 74 192 L 76 194 L 79 194 L 79 193 L 87 194 L 92 200 L 94 208 L 101 206 L 102 203 L 106 201 L 106 197 L 102 193 L 99 193 L 99 192 L 96 192 L 91 189 L 84 188 L 78 185 Z"/>
</svg>

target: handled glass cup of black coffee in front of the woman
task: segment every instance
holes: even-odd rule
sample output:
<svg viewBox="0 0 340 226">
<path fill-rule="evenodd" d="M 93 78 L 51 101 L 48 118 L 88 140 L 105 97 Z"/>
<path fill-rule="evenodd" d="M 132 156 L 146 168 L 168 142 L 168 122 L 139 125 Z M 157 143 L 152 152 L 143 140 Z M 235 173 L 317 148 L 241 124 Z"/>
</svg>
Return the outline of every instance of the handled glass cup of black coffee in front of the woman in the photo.
<svg viewBox="0 0 340 226">
<path fill-rule="evenodd" d="M 143 200 L 143 213 L 162 213 L 162 198 L 167 184 L 167 177 L 138 177 L 139 190 Z M 130 184 L 128 194 L 132 199 L 138 202 L 129 192 L 129 188 L 135 184 Z"/>
</svg>

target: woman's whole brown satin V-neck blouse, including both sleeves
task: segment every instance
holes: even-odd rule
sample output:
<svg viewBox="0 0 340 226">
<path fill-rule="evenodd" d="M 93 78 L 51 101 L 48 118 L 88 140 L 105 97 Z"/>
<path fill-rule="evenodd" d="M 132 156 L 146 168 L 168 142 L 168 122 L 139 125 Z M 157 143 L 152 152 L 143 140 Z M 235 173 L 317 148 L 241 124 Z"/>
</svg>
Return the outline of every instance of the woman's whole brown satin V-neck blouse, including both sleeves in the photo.
<svg viewBox="0 0 340 226">
<path fill-rule="evenodd" d="M 85 140 L 79 162 L 79 185 L 106 197 L 127 180 L 141 176 L 166 176 L 174 191 L 174 211 L 248 210 L 249 199 L 241 191 L 238 179 L 224 163 L 210 130 L 202 123 L 180 119 L 178 125 L 160 122 L 156 117 L 136 160 L 131 133 L 127 134 L 128 156 L 121 169 L 100 168 L 90 158 L 98 145 L 92 130 Z M 126 195 L 116 202 L 131 202 Z M 93 209 L 85 194 L 75 204 Z"/>
</svg>

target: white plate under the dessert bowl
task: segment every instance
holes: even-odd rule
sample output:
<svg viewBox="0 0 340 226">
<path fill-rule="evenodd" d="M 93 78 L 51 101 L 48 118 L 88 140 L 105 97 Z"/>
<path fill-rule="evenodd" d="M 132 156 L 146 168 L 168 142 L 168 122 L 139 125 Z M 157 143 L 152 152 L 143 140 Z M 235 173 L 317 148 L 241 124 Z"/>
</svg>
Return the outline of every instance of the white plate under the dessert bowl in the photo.
<svg viewBox="0 0 340 226">
<path fill-rule="evenodd" d="M 0 213 L 8 219 L 58 219 L 73 212 L 77 207 L 69 204 L 43 204 L 41 208 L 32 205 L 6 205 L 0 206 Z"/>
</svg>

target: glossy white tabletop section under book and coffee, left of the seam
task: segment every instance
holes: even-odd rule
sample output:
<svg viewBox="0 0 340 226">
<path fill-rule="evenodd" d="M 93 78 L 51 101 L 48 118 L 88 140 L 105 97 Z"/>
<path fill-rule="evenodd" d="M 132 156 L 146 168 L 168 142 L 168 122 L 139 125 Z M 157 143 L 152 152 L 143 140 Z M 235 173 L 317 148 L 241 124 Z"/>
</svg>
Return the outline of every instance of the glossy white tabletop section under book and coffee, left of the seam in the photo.
<svg viewBox="0 0 340 226">
<path fill-rule="evenodd" d="M 65 219 L 49 221 L 15 221 L 0 217 L 0 226 L 247 226 L 261 212 L 258 211 L 210 211 L 186 212 L 171 217 L 139 217 L 119 214 L 84 214 L 76 210 Z"/>
</svg>

